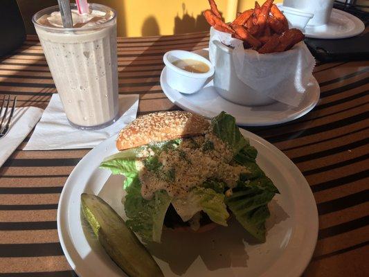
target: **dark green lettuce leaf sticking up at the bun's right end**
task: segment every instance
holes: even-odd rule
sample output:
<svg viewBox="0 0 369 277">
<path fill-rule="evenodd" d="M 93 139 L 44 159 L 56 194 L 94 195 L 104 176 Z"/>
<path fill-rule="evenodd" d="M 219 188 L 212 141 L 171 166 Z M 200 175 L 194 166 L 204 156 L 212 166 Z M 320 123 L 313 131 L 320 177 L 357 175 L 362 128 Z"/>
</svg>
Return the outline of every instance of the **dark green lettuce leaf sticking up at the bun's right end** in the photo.
<svg viewBox="0 0 369 277">
<path fill-rule="evenodd" d="M 222 111 L 211 120 L 213 132 L 219 139 L 231 146 L 233 153 L 237 154 L 244 146 L 249 145 L 249 141 L 242 136 L 238 129 L 235 118 Z"/>
</svg>

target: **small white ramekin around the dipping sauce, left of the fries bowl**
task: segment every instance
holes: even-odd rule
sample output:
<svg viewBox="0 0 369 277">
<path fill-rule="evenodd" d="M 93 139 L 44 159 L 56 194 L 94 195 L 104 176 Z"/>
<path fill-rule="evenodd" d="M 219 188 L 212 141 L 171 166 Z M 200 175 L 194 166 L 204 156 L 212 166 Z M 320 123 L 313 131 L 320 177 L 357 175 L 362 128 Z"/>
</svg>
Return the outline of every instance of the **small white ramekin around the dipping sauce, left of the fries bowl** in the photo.
<svg viewBox="0 0 369 277">
<path fill-rule="evenodd" d="M 179 69 L 177 66 L 174 66 L 172 62 L 177 60 L 198 60 L 199 62 L 204 62 L 207 66 L 209 66 L 209 71 L 206 73 L 191 73 L 183 69 Z M 176 89 L 181 93 L 195 93 L 199 91 L 208 78 L 213 76 L 214 74 L 214 66 L 206 60 L 205 57 L 201 55 L 197 55 L 192 52 L 183 51 L 183 50 L 173 50 L 165 53 L 163 57 L 163 61 L 165 66 L 167 67 L 167 82 L 172 87 L 172 89 Z"/>
</svg>

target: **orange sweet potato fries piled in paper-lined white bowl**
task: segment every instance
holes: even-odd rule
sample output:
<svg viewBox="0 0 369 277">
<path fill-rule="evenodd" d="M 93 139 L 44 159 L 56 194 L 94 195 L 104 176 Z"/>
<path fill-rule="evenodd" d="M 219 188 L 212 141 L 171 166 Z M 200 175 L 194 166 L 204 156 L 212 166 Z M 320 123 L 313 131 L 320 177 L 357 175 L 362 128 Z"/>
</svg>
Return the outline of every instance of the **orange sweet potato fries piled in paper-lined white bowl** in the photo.
<svg viewBox="0 0 369 277">
<path fill-rule="evenodd" d="M 230 33 L 244 41 L 245 48 L 253 48 L 261 54 L 283 52 L 304 39 L 298 29 L 289 29 L 283 13 L 267 0 L 262 6 L 255 1 L 255 8 L 237 14 L 230 24 L 226 24 L 214 0 L 208 0 L 210 10 L 204 11 L 208 24 L 216 30 Z"/>
</svg>

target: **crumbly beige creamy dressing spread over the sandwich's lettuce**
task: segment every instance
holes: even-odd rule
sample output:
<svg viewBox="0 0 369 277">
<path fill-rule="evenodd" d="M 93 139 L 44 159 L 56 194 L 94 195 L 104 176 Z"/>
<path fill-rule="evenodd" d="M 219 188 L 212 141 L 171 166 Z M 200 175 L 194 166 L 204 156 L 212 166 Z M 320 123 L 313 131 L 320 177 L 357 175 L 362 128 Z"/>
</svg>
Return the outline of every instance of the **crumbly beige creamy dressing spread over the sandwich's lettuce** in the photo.
<svg viewBox="0 0 369 277">
<path fill-rule="evenodd" d="M 229 164 L 233 151 L 210 132 L 183 139 L 177 147 L 159 155 L 147 149 L 143 152 L 146 160 L 140 162 L 139 177 L 145 199 L 151 199 L 156 190 L 166 190 L 172 197 L 185 197 L 191 188 L 201 186 L 206 179 L 219 179 L 233 188 L 240 174 L 248 172 L 243 166 Z"/>
</svg>

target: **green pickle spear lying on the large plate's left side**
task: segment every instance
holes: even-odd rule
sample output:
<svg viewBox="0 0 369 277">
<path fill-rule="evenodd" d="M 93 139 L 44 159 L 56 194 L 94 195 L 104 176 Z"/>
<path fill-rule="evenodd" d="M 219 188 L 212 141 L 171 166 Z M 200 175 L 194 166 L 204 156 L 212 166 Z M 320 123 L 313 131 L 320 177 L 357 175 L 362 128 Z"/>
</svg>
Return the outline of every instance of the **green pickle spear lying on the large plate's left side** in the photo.
<svg viewBox="0 0 369 277">
<path fill-rule="evenodd" d="M 149 251 L 107 202 L 82 193 L 81 205 L 84 218 L 100 244 L 128 276 L 164 276 Z"/>
</svg>

